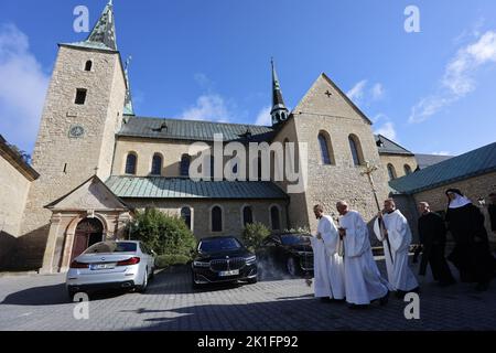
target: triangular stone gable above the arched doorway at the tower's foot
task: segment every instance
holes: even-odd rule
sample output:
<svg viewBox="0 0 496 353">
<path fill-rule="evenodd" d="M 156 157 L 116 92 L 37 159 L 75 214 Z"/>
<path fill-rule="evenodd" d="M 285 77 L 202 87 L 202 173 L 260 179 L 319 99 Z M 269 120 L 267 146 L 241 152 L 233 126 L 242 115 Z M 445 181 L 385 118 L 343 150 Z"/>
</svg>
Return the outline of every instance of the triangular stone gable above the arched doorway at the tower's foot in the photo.
<svg viewBox="0 0 496 353">
<path fill-rule="evenodd" d="M 97 175 L 93 175 L 44 207 L 48 210 L 131 210 Z"/>
</svg>

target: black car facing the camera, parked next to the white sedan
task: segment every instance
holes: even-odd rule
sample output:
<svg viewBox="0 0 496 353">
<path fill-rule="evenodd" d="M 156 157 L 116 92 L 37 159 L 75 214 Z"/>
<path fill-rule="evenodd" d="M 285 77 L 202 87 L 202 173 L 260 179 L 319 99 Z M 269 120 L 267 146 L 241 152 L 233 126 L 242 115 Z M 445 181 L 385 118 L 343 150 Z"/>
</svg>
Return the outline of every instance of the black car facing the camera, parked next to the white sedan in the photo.
<svg viewBox="0 0 496 353">
<path fill-rule="evenodd" d="M 193 287 L 217 282 L 257 282 L 257 256 L 234 236 L 200 240 L 192 264 Z"/>
</svg>

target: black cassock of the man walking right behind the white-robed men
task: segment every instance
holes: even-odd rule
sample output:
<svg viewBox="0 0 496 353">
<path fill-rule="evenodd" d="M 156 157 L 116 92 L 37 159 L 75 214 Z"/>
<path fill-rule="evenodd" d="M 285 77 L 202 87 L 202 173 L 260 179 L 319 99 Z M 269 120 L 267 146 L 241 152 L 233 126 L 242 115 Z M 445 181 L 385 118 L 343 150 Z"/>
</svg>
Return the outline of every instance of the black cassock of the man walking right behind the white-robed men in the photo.
<svg viewBox="0 0 496 353">
<path fill-rule="evenodd" d="M 431 266 L 434 280 L 441 284 L 452 284 L 454 278 L 444 258 L 446 246 L 446 227 L 443 218 L 436 213 L 430 212 L 419 218 L 419 235 L 423 247 L 420 261 L 420 276 L 425 276 L 428 264 Z"/>
</svg>

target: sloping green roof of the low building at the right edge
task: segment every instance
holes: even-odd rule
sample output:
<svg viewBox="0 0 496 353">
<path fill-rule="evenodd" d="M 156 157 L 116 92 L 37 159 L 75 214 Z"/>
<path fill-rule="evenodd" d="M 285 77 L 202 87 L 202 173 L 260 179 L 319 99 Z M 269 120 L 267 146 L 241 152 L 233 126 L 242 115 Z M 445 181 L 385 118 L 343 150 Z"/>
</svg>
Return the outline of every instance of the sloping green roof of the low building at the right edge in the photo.
<svg viewBox="0 0 496 353">
<path fill-rule="evenodd" d="M 495 171 L 496 142 L 392 180 L 389 185 L 400 193 L 414 194 Z"/>
</svg>

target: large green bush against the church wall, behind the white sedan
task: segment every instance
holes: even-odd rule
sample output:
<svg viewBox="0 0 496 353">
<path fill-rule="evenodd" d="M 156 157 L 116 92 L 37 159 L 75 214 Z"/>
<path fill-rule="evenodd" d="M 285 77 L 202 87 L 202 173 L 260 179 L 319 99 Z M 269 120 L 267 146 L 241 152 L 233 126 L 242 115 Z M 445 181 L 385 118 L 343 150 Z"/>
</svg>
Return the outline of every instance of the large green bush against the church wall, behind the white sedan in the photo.
<svg viewBox="0 0 496 353">
<path fill-rule="evenodd" d="M 141 240 L 158 255 L 175 255 L 191 258 L 196 238 L 181 217 L 171 216 L 157 208 L 137 212 L 130 225 L 131 238 Z"/>
</svg>

